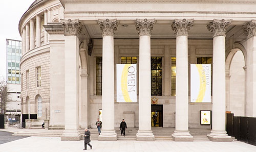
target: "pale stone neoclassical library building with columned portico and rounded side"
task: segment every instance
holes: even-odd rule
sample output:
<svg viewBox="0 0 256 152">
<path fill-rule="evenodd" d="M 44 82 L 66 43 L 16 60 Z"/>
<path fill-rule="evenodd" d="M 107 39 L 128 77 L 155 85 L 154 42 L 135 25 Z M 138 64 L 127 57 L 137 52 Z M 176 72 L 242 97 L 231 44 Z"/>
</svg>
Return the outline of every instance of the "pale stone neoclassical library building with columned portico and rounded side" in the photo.
<svg viewBox="0 0 256 152">
<path fill-rule="evenodd" d="M 193 141 L 189 128 L 230 141 L 226 112 L 256 116 L 255 8 L 252 0 L 37 0 L 19 21 L 22 114 L 65 129 L 61 140 L 80 140 L 79 129 L 102 116 L 99 140 L 117 140 L 124 118 L 137 140 L 154 141 L 157 112 L 175 141 Z M 116 64 L 137 64 L 137 102 L 117 102 Z M 211 64 L 210 103 L 190 102 L 190 64 Z M 201 110 L 212 111 L 212 128 L 200 124 Z"/>
</svg>

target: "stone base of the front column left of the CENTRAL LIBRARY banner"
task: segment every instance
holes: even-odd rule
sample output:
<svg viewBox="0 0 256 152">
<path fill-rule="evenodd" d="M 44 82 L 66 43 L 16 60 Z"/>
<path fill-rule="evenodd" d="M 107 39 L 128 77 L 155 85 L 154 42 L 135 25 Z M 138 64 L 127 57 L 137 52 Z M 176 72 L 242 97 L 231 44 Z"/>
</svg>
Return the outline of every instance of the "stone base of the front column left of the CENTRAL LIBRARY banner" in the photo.
<svg viewBox="0 0 256 152">
<path fill-rule="evenodd" d="M 189 131 L 174 131 L 172 137 L 174 141 L 193 141 Z"/>
</svg>

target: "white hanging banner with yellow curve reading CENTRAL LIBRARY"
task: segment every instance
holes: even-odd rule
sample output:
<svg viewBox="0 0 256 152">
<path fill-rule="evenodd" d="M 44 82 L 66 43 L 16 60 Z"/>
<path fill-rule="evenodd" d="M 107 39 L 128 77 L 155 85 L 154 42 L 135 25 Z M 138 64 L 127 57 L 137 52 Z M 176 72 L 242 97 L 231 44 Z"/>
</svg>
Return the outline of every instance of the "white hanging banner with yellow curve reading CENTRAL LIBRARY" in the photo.
<svg viewBox="0 0 256 152">
<path fill-rule="evenodd" d="M 190 102 L 211 102 L 210 64 L 190 64 Z"/>
</svg>

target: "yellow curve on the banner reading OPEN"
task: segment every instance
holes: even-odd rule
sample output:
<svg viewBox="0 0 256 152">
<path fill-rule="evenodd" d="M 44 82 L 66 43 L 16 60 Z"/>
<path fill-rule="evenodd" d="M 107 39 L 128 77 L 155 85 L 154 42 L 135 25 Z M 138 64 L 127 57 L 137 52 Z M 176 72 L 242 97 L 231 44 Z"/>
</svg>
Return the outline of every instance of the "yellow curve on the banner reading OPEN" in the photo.
<svg viewBox="0 0 256 152">
<path fill-rule="evenodd" d="M 123 94 L 123 98 L 125 102 L 132 102 L 130 95 L 127 90 L 127 77 L 128 77 L 128 68 L 131 66 L 131 64 L 125 64 L 122 71 L 121 76 L 121 90 Z"/>
</svg>

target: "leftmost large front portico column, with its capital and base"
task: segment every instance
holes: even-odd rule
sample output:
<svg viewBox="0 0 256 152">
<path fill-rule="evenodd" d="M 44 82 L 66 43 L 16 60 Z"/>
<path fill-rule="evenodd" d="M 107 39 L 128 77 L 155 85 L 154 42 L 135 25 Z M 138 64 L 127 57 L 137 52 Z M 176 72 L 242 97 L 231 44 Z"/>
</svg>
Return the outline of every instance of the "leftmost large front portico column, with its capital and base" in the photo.
<svg viewBox="0 0 256 152">
<path fill-rule="evenodd" d="M 61 20 L 65 35 L 65 131 L 61 140 L 80 140 L 78 130 L 78 77 L 79 77 L 79 39 L 81 22 Z"/>
</svg>

